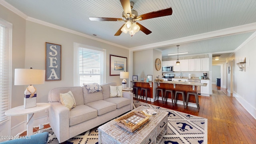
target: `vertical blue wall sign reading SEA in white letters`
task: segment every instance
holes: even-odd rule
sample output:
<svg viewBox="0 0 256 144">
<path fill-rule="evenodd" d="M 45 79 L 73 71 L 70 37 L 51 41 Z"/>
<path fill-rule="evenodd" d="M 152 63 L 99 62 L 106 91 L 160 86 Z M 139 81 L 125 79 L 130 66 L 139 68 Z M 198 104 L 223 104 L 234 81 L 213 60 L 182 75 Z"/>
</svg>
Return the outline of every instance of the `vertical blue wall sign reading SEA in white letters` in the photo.
<svg viewBox="0 0 256 144">
<path fill-rule="evenodd" d="M 45 43 L 45 80 L 61 80 L 61 45 Z"/>
</svg>

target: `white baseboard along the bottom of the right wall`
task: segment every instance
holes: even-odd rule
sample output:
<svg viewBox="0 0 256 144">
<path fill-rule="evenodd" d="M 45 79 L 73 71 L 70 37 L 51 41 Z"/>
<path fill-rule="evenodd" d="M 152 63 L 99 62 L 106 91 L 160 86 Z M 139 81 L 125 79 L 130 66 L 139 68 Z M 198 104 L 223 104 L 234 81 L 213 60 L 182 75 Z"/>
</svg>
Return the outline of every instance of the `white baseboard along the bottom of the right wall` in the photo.
<svg viewBox="0 0 256 144">
<path fill-rule="evenodd" d="M 236 100 L 249 112 L 252 117 L 256 120 L 256 108 L 249 104 L 242 96 L 237 94 L 236 92 L 233 92 L 233 96 L 236 98 Z"/>
</svg>

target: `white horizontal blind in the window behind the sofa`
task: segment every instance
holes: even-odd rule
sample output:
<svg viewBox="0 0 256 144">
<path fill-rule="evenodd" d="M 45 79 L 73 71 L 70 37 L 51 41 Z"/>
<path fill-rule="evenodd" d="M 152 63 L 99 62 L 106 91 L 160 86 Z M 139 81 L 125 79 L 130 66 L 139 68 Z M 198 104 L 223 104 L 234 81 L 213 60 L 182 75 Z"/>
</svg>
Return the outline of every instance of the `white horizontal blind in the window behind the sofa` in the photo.
<svg viewBox="0 0 256 144">
<path fill-rule="evenodd" d="M 79 84 L 105 81 L 105 50 L 79 48 Z"/>
</svg>

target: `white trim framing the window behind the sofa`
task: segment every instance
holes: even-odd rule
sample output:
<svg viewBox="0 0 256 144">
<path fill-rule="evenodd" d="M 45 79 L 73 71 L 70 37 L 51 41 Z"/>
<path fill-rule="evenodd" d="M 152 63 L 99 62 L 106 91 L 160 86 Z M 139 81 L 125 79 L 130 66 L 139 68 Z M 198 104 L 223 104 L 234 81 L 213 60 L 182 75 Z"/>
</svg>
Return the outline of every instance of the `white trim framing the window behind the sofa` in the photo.
<svg viewBox="0 0 256 144">
<path fill-rule="evenodd" d="M 104 78 L 102 80 L 103 83 L 106 83 L 106 49 L 103 48 L 97 48 L 93 46 L 88 46 L 86 44 L 79 44 L 74 42 L 74 77 L 73 77 L 73 85 L 74 86 L 80 86 L 80 76 L 79 76 L 79 48 L 88 48 L 92 50 L 98 50 L 98 51 L 103 51 L 104 52 Z"/>
</svg>

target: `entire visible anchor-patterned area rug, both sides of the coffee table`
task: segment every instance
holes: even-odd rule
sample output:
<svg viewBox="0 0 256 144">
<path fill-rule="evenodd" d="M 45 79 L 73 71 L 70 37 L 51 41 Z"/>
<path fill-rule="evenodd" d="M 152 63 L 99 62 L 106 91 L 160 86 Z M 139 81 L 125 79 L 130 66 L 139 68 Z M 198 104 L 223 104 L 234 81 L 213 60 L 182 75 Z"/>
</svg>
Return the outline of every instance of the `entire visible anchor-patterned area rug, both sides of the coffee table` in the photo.
<svg viewBox="0 0 256 144">
<path fill-rule="evenodd" d="M 166 135 L 160 144 L 207 144 L 207 119 L 175 110 L 170 110 L 144 102 L 134 100 L 134 108 L 148 106 L 168 112 L 168 128 Z M 46 129 L 49 133 L 48 144 L 58 144 L 58 140 L 52 129 Z M 98 144 L 98 130 L 93 128 L 74 138 L 70 138 L 67 144 Z"/>
</svg>

